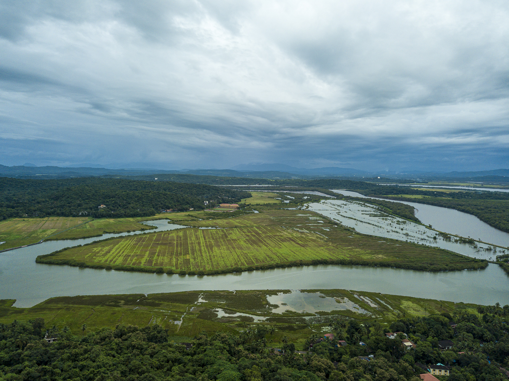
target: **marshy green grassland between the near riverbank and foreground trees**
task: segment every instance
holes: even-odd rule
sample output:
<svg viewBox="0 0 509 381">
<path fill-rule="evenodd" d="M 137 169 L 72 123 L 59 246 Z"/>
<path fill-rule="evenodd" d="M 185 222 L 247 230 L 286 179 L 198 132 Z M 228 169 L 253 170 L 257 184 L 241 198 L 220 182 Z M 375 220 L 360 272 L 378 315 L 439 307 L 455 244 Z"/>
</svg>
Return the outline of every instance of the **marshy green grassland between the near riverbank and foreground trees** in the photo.
<svg viewBox="0 0 509 381">
<path fill-rule="evenodd" d="M 166 276 L 166 275 L 162 275 Z M 178 275 L 173 275 L 178 276 Z M 306 290 L 306 293 L 320 292 L 321 297 L 332 297 L 338 303 L 338 309 L 332 312 L 284 313 L 271 312 L 275 305 L 267 300 L 267 295 L 278 292 L 289 293 L 288 290 L 249 290 L 249 291 L 190 291 L 168 294 L 131 294 L 131 295 L 95 295 L 56 297 L 48 299 L 30 308 L 11 307 L 14 300 L 0 301 L 0 323 L 11 323 L 14 320 L 31 320 L 42 317 L 46 327 L 55 325 L 59 329 L 68 326 L 73 334 L 84 335 L 102 327 L 115 328 L 117 324 L 137 325 L 160 324 L 168 329 L 168 335 L 176 341 L 193 337 L 202 331 L 236 333 L 244 330 L 246 325 L 263 325 L 276 329 L 268 336 L 274 344 L 280 346 L 283 336 L 298 347 L 313 333 L 328 332 L 330 319 L 353 318 L 358 321 L 374 323 L 378 321 L 387 326 L 398 317 L 426 316 L 442 312 L 453 313 L 466 310 L 476 314 L 475 304 L 454 303 L 433 299 L 419 299 L 406 296 L 387 295 L 371 292 L 348 290 Z M 304 292 L 304 291 L 303 291 Z M 207 302 L 195 304 L 199 296 Z M 360 298 L 362 299 L 360 299 Z M 369 298 L 369 299 L 367 299 Z M 366 313 L 359 313 L 355 308 L 343 308 L 343 301 L 355 303 Z M 370 303 L 375 304 L 373 307 Z M 267 307 L 269 306 L 269 308 Z M 191 311 L 191 307 L 192 311 Z M 272 308 L 271 308 L 272 307 Z M 218 317 L 217 308 L 230 315 Z M 187 313 L 186 313 L 187 311 Z M 246 315 L 231 316 L 233 312 Z M 182 316 L 184 315 L 182 319 Z M 251 315 L 251 316 L 247 316 Z M 252 316 L 265 316 L 266 320 L 253 322 Z M 315 316 L 312 320 L 306 320 Z M 176 324 L 182 319 L 182 324 Z M 82 331 L 83 324 L 87 330 Z"/>
</svg>

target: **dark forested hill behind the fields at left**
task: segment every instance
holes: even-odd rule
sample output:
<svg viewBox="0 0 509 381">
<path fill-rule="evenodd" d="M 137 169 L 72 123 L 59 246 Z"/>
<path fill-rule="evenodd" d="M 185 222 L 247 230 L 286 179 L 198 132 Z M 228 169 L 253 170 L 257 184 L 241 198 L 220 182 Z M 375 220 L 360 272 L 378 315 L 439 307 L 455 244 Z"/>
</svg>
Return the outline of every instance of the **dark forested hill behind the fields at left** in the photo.
<svg viewBox="0 0 509 381">
<path fill-rule="evenodd" d="M 82 177 L 63 180 L 0 178 L 0 219 L 27 216 L 137 217 L 160 209 L 204 209 L 205 200 L 239 202 L 250 193 L 177 182 Z M 106 205 L 99 209 L 100 205 Z"/>
</svg>

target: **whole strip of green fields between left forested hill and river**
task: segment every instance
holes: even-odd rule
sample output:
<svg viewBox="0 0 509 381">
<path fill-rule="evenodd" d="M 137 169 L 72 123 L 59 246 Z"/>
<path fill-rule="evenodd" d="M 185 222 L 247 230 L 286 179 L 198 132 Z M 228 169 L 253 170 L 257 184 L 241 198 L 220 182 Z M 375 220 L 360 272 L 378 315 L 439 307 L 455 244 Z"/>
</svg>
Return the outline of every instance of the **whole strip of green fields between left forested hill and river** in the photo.
<svg viewBox="0 0 509 381">
<path fill-rule="evenodd" d="M 167 218 L 167 214 L 158 214 L 151 217 L 98 218 L 94 220 L 87 217 L 9 218 L 0 221 L 0 242 L 6 241 L 0 245 L 0 250 L 36 243 L 54 234 L 56 235 L 49 239 L 78 239 L 98 237 L 103 233 L 148 230 L 152 227 L 139 223 L 160 218 Z M 89 223 L 83 224 L 88 220 L 90 220 Z M 76 225 L 80 226 L 67 230 Z M 64 230 L 67 231 L 64 232 Z"/>
</svg>

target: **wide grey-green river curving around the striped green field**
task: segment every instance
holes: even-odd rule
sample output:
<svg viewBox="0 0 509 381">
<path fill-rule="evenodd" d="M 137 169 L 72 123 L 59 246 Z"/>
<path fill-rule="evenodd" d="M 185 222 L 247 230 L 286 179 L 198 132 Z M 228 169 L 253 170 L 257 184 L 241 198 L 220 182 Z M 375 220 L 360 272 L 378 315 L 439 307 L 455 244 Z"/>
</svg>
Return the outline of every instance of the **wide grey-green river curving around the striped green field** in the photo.
<svg viewBox="0 0 509 381">
<path fill-rule="evenodd" d="M 163 219 L 147 221 L 145 224 L 157 226 L 158 231 L 183 228 L 167 222 Z M 0 298 L 16 299 L 16 307 L 30 307 L 55 296 L 149 294 L 190 290 L 347 289 L 454 302 L 509 304 L 509 276 L 494 264 L 484 270 L 438 273 L 321 265 L 211 276 L 182 276 L 35 263 L 38 255 L 63 247 L 138 233 L 140 232 L 47 241 L 0 253 Z"/>
</svg>

